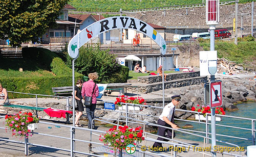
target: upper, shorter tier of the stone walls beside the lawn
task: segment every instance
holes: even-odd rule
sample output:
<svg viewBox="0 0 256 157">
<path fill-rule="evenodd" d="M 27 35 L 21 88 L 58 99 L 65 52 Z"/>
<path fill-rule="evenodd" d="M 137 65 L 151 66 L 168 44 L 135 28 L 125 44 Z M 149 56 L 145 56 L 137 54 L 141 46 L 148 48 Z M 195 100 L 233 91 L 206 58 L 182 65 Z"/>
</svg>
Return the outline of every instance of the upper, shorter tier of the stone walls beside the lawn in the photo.
<svg viewBox="0 0 256 157">
<path fill-rule="evenodd" d="M 180 73 L 168 73 L 166 76 L 166 80 L 179 80 L 179 79 L 187 79 L 191 77 L 200 76 L 200 71 L 197 72 L 180 72 Z M 143 84 L 152 84 L 162 82 L 162 77 L 158 75 L 149 75 L 149 76 L 139 76 L 138 83 Z"/>
</svg>

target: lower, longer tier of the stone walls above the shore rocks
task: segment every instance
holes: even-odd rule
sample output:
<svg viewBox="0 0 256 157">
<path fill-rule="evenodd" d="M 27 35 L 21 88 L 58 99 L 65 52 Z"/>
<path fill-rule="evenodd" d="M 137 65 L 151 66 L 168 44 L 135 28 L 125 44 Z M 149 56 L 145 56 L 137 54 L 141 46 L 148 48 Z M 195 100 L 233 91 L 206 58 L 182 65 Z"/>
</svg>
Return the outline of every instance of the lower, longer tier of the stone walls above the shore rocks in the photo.
<svg viewBox="0 0 256 157">
<path fill-rule="evenodd" d="M 183 87 L 183 86 L 190 86 L 190 85 L 199 85 L 201 83 L 207 82 L 207 76 L 200 76 L 188 79 L 181 79 L 181 80 L 174 80 L 174 81 L 167 81 L 164 82 L 164 88 L 175 88 L 175 87 Z M 162 90 L 162 82 L 153 83 L 153 84 L 145 84 L 138 86 L 136 90 L 140 93 L 150 93 L 154 91 Z"/>
</svg>

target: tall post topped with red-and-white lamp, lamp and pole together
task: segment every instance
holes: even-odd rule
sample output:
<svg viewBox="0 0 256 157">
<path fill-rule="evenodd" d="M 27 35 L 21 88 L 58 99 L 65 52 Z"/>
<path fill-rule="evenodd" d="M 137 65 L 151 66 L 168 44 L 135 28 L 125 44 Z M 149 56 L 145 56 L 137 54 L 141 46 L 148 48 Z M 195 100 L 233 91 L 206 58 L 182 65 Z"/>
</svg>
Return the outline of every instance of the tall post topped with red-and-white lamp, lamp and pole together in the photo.
<svg viewBox="0 0 256 157">
<path fill-rule="evenodd" d="M 209 25 L 210 30 L 210 50 L 215 50 L 215 29 L 216 24 L 220 19 L 220 1 L 219 0 L 206 0 L 206 24 Z M 217 68 L 217 67 L 216 67 Z M 215 81 L 214 73 L 210 75 L 210 81 Z M 216 121 L 215 121 L 215 108 L 211 108 L 211 147 L 216 146 Z M 216 152 L 211 152 L 212 157 L 216 157 Z"/>
</svg>

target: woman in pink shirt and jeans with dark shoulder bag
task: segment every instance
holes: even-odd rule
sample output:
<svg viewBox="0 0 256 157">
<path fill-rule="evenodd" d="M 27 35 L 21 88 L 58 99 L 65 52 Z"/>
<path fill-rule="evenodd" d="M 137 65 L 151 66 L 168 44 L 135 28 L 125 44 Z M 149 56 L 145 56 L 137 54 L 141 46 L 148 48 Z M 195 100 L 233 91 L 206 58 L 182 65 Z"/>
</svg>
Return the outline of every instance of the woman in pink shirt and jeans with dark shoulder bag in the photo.
<svg viewBox="0 0 256 157">
<path fill-rule="evenodd" d="M 81 93 L 83 99 L 85 99 L 85 96 L 92 96 L 92 105 L 89 107 L 86 106 L 86 113 L 89 121 L 88 128 L 91 128 L 92 120 L 94 119 L 94 111 L 97 103 L 96 97 L 99 95 L 99 87 L 93 81 L 98 79 L 98 73 L 89 73 L 88 77 L 90 80 L 83 83 Z M 93 91 L 94 86 L 95 89 Z M 94 123 L 92 129 L 94 129 Z"/>
</svg>

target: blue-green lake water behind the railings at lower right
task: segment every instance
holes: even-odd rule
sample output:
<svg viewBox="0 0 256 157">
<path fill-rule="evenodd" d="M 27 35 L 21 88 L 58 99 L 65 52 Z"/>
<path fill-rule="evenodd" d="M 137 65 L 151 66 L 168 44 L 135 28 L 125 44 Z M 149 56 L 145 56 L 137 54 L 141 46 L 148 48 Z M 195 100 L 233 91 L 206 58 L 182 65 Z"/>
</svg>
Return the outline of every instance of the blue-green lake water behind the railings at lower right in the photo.
<svg viewBox="0 0 256 157">
<path fill-rule="evenodd" d="M 241 104 L 238 104 L 237 107 L 239 109 L 238 111 L 233 111 L 233 112 L 226 111 L 226 115 L 253 118 L 253 119 L 256 118 L 256 102 L 241 103 Z M 190 128 L 190 129 L 205 132 L 205 124 L 199 124 L 199 123 L 193 123 L 193 122 L 182 122 L 182 121 L 176 121 L 175 123 L 177 123 L 180 127 L 184 126 L 185 124 L 191 124 L 194 126 L 194 128 Z M 249 121 L 249 120 L 241 120 L 241 119 L 234 119 L 234 118 L 227 118 L 227 117 L 223 117 L 223 119 L 220 122 L 216 121 L 216 124 L 251 128 L 251 121 Z M 210 130 L 210 128 L 211 128 L 211 126 L 209 125 L 209 130 Z M 199 134 L 199 133 L 197 133 L 197 134 Z M 251 130 L 228 128 L 228 127 L 223 127 L 223 126 L 216 126 L 216 134 L 248 138 L 248 139 L 251 138 Z M 199 134 L 199 135 L 205 136 L 205 134 Z M 182 134 L 179 132 L 176 132 L 176 137 L 181 138 L 181 139 L 190 139 L 190 140 L 203 142 L 202 138 L 190 136 L 187 134 Z M 233 139 L 233 138 L 227 138 L 227 137 L 221 137 L 221 136 L 216 136 L 216 139 L 223 140 L 225 142 L 229 142 L 229 143 L 233 143 L 233 144 L 237 144 L 237 145 L 243 146 L 245 148 L 248 145 L 252 145 L 252 142 L 248 141 L 248 140 Z M 218 143 L 218 142 L 217 142 L 217 144 L 225 145 L 223 143 Z M 230 145 L 227 145 L 227 146 L 230 146 Z"/>
</svg>

